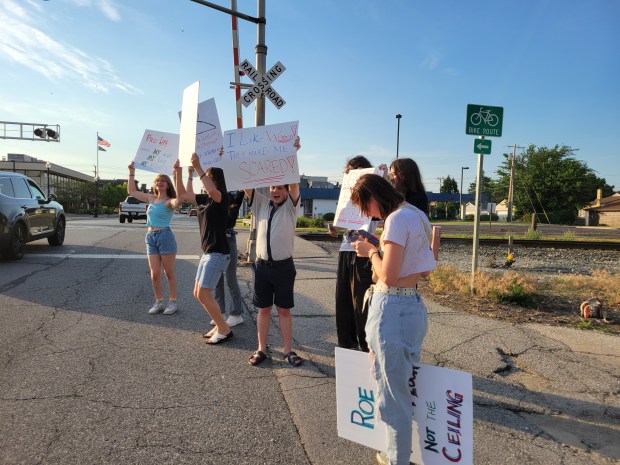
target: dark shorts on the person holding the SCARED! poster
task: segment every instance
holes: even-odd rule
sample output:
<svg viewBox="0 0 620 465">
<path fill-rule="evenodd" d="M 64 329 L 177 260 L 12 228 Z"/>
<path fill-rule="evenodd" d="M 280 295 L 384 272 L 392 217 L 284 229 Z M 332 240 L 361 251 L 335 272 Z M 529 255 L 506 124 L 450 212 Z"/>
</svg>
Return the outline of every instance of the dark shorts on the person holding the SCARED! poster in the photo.
<svg viewBox="0 0 620 465">
<path fill-rule="evenodd" d="M 295 306 L 295 263 L 292 258 L 269 262 L 257 259 L 254 269 L 255 307 L 271 307 L 274 303 L 280 308 Z"/>
</svg>

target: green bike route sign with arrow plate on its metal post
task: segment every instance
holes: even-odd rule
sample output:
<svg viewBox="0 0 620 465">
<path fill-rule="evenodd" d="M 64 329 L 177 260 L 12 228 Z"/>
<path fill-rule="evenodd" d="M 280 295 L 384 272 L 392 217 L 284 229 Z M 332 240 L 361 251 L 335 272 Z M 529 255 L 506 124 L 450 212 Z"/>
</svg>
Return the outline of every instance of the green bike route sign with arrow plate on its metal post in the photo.
<svg viewBox="0 0 620 465">
<path fill-rule="evenodd" d="M 474 235 L 471 257 L 471 294 L 476 293 L 476 270 L 478 269 L 478 245 L 480 237 L 480 197 L 482 195 L 482 165 L 484 155 L 491 154 L 491 141 L 485 137 L 501 137 L 504 123 L 504 108 L 488 105 L 467 105 L 465 134 L 478 136 L 474 140 L 474 153 L 478 154 L 478 173 L 476 175 L 476 214 L 474 215 Z M 491 213 L 489 212 L 489 221 Z M 491 223 L 489 222 L 489 225 Z"/>
</svg>

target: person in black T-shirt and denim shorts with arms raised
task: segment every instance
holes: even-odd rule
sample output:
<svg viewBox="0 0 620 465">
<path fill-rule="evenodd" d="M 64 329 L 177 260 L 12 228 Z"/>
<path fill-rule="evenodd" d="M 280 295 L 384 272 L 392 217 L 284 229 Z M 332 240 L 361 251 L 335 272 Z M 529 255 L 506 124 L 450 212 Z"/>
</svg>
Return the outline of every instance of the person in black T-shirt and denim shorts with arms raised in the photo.
<svg viewBox="0 0 620 465">
<path fill-rule="evenodd" d="M 198 225 L 203 255 L 196 272 L 194 297 L 215 322 L 215 328 L 203 334 L 205 342 L 219 344 L 233 336 L 212 292 L 230 262 L 230 248 L 226 239 L 226 218 L 230 201 L 224 171 L 221 168 L 212 167 L 205 172 L 200 166 L 200 158 L 195 153 L 192 154 L 192 166 L 207 193 L 195 194 L 185 189 L 183 171 L 178 160 L 174 165 L 175 184 L 180 199 L 198 205 Z"/>
</svg>

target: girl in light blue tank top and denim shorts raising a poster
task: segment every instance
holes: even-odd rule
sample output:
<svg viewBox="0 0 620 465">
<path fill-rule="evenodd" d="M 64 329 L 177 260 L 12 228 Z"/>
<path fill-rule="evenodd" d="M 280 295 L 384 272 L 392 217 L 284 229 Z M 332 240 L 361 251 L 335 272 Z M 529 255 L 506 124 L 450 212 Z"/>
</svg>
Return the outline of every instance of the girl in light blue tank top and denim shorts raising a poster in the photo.
<svg viewBox="0 0 620 465">
<path fill-rule="evenodd" d="M 155 293 L 155 303 L 149 310 L 150 315 L 164 312 L 172 315 L 178 310 L 177 306 L 177 277 L 175 261 L 177 243 L 170 223 L 174 210 L 181 205 L 177 198 L 174 184 L 169 176 L 158 174 L 153 181 L 153 194 L 141 192 L 136 188 L 134 162 L 129 164 L 129 179 L 127 192 L 138 200 L 149 204 L 146 211 L 146 254 L 151 269 L 151 282 Z M 164 283 L 162 271 L 166 275 L 168 284 L 168 300 L 164 299 Z"/>
</svg>

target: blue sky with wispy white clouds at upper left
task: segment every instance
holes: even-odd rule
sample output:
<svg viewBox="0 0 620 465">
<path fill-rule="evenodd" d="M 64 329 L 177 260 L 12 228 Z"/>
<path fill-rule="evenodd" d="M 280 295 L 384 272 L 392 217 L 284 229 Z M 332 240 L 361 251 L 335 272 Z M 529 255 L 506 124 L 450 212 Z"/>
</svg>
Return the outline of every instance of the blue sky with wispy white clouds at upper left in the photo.
<svg viewBox="0 0 620 465">
<path fill-rule="evenodd" d="M 238 0 L 243 13 L 256 8 Z M 469 166 L 466 190 L 475 103 L 504 107 L 486 175 L 513 144 L 565 144 L 620 189 L 617 0 L 266 0 L 266 17 L 267 68 L 287 68 L 274 83 L 286 105 L 267 102 L 266 123 L 299 120 L 303 174 L 340 180 L 357 154 L 389 163 L 399 113 L 400 156 L 418 162 L 427 190 Z M 0 139 L 0 156 L 93 174 L 99 132 L 111 143 L 100 176 L 124 178 L 145 129 L 178 133 L 194 81 L 222 127 L 236 125 L 225 13 L 189 0 L 0 0 L 0 24 L 0 120 L 61 127 L 60 143 Z M 255 63 L 256 37 L 239 20 L 241 61 Z M 254 106 L 243 116 L 254 125 Z"/>
</svg>

